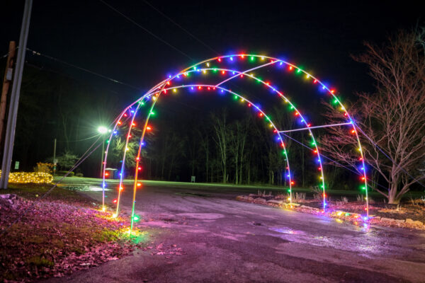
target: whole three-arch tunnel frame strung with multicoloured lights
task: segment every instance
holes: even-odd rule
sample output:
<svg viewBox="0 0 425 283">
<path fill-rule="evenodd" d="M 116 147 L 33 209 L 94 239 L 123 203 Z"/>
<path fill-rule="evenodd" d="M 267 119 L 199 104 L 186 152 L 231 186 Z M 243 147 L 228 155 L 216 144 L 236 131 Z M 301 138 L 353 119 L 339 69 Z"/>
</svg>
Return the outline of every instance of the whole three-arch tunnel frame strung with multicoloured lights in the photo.
<svg viewBox="0 0 425 283">
<path fill-rule="evenodd" d="M 237 71 L 234 69 L 228 69 L 228 68 L 220 68 L 220 67 L 215 67 L 212 66 L 212 64 L 220 64 L 221 62 L 224 62 L 225 60 L 229 60 L 232 62 L 235 62 L 237 60 L 249 60 L 251 62 L 255 62 L 256 59 L 259 59 L 259 61 L 264 62 L 266 61 L 266 63 L 264 64 L 260 64 L 259 66 L 256 66 L 254 68 L 250 68 L 250 69 L 246 69 L 244 71 Z M 290 161 L 288 158 L 288 154 L 287 151 L 285 149 L 285 142 L 283 141 L 283 137 L 280 134 L 281 132 L 290 132 L 290 131 L 295 131 L 298 129 L 292 129 L 292 130 L 287 130 L 287 131 L 283 131 L 281 129 L 278 128 L 277 125 L 275 125 L 273 123 L 273 121 L 268 117 L 268 115 L 266 115 L 266 112 L 263 112 L 263 110 L 261 110 L 261 108 L 259 108 L 259 106 L 257 106 L 256 104 L 252 103 L 250 100 L 248 100 L 247 98 L 245 98 L 244 96 L 240 95 L 239 93 L 236 93 L 234 91 L 230 91 L 227 88 L 222 87 L 223 83 L 226 83 L 227 81 L 231 81 L 232 79 L 236 79 L 236 78 L 242 78 L 242 79 L 253 79 L 256 82 L 259 82 L 261 84 L 263 84 L 264 86 L 266 86 L 267 88 L 269 88 L 271 91 L 273 91 L 273 93 L 276 93 L 278 95 L 279 98 L 281 98 L 282 100 L 285 101 L 285 103 L 288 103 L 288 105 L 290 105 L 290 109 L 293 110 L 295 117 L 299 117 L 301 122 L 304 123 L 305 125 L 305 130 L 307 130 L 310 133 L 310 136 L 312 137 L 312 146 L 314 147 L 314 149 L 312 149 L 312 151 L 314 152 L 314 155 L 317 155 L 317 161 L 319 163 L 319 172 L 320 172 L 320 179 L 321 179 L 321 185 L 320 187 L 322 188 L 323 191 L 323 209 L 326 209 L 326 188 L 325 188 L 325 179 L 324 179 L 324 173 L 323 173 L 323 166 L 322 166 L 322 158 L 320 155 L 320 151 L 319 151 L 319 146 L 317 145 L 316 139 L 314 138 L 314 134 L 312 132 L 311 129 L 314 129 L 316 127 L 312 126 L 310 122 L 307 122 L 307 120 L 305 119 L 305 117 L 302 115 L 302 112 L 300 112 L 300 110 L 298 110 L 295 107 L 295 104 L 291 103 L 290 100 L 285 97 L 285 95 L 283 94 L 283 92 L 278 91 L 276 88 L 273 88 L 273 86 L 271 86 L 271 83 L 268 83 L 267 81 L 263 81 L 261 79 L 259 79 L 258 77 L 254 76 L 254 74 L 252 74 L 251 72 L 257 69 L 261 69 L 263 67 L 267 67 L 267 66 L 271 66 L 271 65 L 275 65 L 278 64 L 278 66 L 283 66 L 288 68 L 288 71 L 293 71 L 297 74 L 304 74 L 305 75 L 305 79 L 312 81 L 313 84 L 317 84 L 320 88 L 322 88 L 322 90 L 327 91 L 327 93 L 329 93 L 329 95 L 332 98 L 332 103 L 339 105 L 340 110 L 344 112 L 344 116 L 346 117 L 346 123 L 341 123 L 340 125 L 349 125 L 352 127 L 352 134 L 356 135 L 356 140 L 357 140 L 357 147 L 358 147 L 358 154 L 359 154 L 359 161 L 361 161 L 361 169 L 363 171 L 363 177 L 362 180 L 364 181 L 364 189 L 365 189 L 365 200 L 366 200 L 366 212 L 368 213 L 368 183 L 367 183 L 367 177 L 365 174 L 365 161 L 363 159 L 363 151 L 361 148 L 361 142 L 360 139 L 358 137 L 358 132 L 356 129 L 356 124 L 355 122 L 353 122 L 351 115 L 349 115 L 348 111 L 346 110 L 346 108 L 344 107 L 344 105 L 342 105 L 341 101 L 339 100 L 339 98 L 336 97 L 335 95 L 335 91 L 333 89 L 329 89 L 326 85 L 324 85 L 324 83 L 322 83 L 322 81 L 319 81 L 319 79 L 317 79 L 316 77 L 312 76 L 311 74 L 307 73 L 307 71 L 304 71 L 302 69 L 300 69 L 299 67 L 295 66 L 294 64 L 290 64 L 289 62 L 285 62 L 284 60 L 281 59 L 276 59 L 273 57 L 266 57 L 266 56 L 261 56 L 261 55 L 256 55 L 256 54 L 233 54 L 233 55 L 227 55 L 227 56 L 222 56 L 222 57 L 214 57 L 211 59 L 207 59 L 204 60 L 203 62 L 199 62 L 197 64 L 194 64 L 191 67 L 188 67 L 186 69 L 183 69 L 182 71 L 180 71 L 179 73 L 175 74 L 174 76 L 169 76 L 168 79 L 165 79 L 164 81 L 158 83 L 156 86 L 154 86 L 153 88 L 151 88 L 149 91 L 147 91 L 147 93 L 145 93 L 144 96 L 142 96 L 141 98 L 139 98 L 138 100 L 136 100 L 134 103 L 132 103 L 131 105 L 129 105 L 127 108 L 125 108 L 125 110 L 123 112 L 120 113 L 120 115 L 118 116 L 117 119 L 115 119 L 114 121 L 114 127 L 113 130 L 111 131 L 111 136 L 109 141 L 111 141 L 111 139 L 113 139 L 114 137 L 114 133 L 117 129 L 118 126 L 123 125 L 123 123 L 125 122 L 129 122 L 128 124 L 128 133 L 127 133 L 127 137 L 126 137 L 126 142 L 125 142 L 125 148 L 124 148 L 124 152 L 123 152 L 123 161 L 122 161 L 122 167 L 121 167 L 121 171 L 120 171 L 120 183 L 118 186 L 118 202 L 117 202 L 117 209 L 116 209 L 116 214 L 118 215 L 119 213 L 119 206 L 120 206 L 120 195 L 121 195 L 121 191 L 123 188 L 123 178 L 124 178 L 124 168 L 125 168 L 125 157 L 126 157 L 126 151 L 128 149 L 128 141 L 131 137 L 131 131 L 132 131 L 132 127 L 134 127 L 134 120 L 135 117 L 140 109 L 141 105 L 144 105 L 145 103 L 147 103 L 148 101 L 152 101 L 152 105 L 150 110 L 148 111 L 148 115 L 147 118 L 145 119 L 145 125 L 142 128 L 142 134 L 140 137 L 140 143 L 139 143 L 139 148 L 137 151 L 137 157 L 136 157 L 136 166 L 135 166 L 135 180 L 134 180 L 134 185 L 133 185 L 133 208 L 132 208 L 132 216 L 134 214 L 134 205 L 135 205 L 135 194 L 137 191 L 137 186 L 140 184 L 138 182 L 138 173 L 140 171 L 140 153 L 141 153 L 141 149 L 142 146 L 144 144 L 144 139 L 145 139 L 145 133 L 147 131 L 147 129 L 149 129 L 148 123 L 149 123 L 149 118 L 152 115 L 152 111 L 154 109 L 155 103 L 157 102 L 157 100 L 159 99 L 159 97 L 163 94 L 166 94 L 167 92 L 170 91 L 176 91 L 179 88 L 205 88 L 205 90 L 209 90 L 209 91 L 220 91 L 220 92 L 225 92 L 225 93 L 231 93 L 233 96 L 237 97 L 238 99 L 244 101 L 247 103 L 247 105 L 249 107 L 253 107 L 254 109 L 256 109 L 257 111 L 259 111 L 259 115 L 263 116 L 269 123 L 270 123 L 270 127 L 273 129 L 273 132 L 276 133 L 278 135 L 278 139 L 280 140 L 280 144 L 283 147 L 283 155 L 285 156 L 285 160 L 287 163 L 287 170 L 288 170 L 288 180 L 289 180 L 289 193 L 290 193 L 290 198 L 289 201 L 292 202 L 292 185 L 293 185 L 293 175 L 290 172 Z M 206 84 L 206 83 L 192 83 L 192 84 L 187 84 L 187 85 L 180 85 L 180 86 L 171 86 L 171 83 L 174 83 L 174 81 L 176 79 L 188 79 L 191 77 L 191 74 L 193 72 L 201 72 L 203 74 L 206 74 L 208 72 L 212 72 L 217 73 L 217 74 L 230 74 L 231 76 L 229 76 L 227 79 L 224 79 L 222 81 L 220 81 L 219 83 L 215 83 L 215 84 Z M 133 109 L 133 107 L 135 106 L 135 109 Z M 128 114 L 128 112 L 130 112 Z M 125 119 L 123 119 L 125 118 Z M 332 125 L 330 125 L 332 126 Z M 319 127 L 319 126 L 317 126 Z M 325 127 L 325 126 L 323 126 Z M 106 154 L 105 154 L 105 158 L 103 160 L 103 207 L 104 207 L 104 188 L 106 186 L 105 183 L 105 168 L 106 168 L 106 163 L 107 163 L 107 158 L 108 158 L 108 151 L 109 151 L 109 146 L 110 146 L 111 142 L 108 143 L 107 145 L 107 149 L 106 149 Z M 314 156 L 314 158 L 316 158 Z M 286 175 L 286 173 L 285 173 Z M 132 217 L 133 219 L 133 217 Z"/>
</svg>

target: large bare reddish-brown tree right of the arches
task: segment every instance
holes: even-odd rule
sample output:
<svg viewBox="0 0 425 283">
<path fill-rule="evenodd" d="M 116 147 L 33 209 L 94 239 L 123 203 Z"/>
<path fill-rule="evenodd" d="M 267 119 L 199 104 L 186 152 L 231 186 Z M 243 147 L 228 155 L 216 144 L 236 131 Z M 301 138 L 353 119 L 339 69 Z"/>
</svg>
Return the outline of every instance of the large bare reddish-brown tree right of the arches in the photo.
<svg viewBox="0 0 425 283">
<path fill-rule="evenodd" d="M 425 160 L 424 39 L 424 32 L 400 31 L 384 47 L 366 43 L 365 54 L 354 58 L 370 68 L 376 92 L 358 93 L 358 102 L 350 110 L 366 135 L 361 134 L 365 161 L 387 187 L 373 188 L 390 204 L 397 204 L 413 183 L 425 178 L 419 171 Z M 325 104 L 330 122 L 344 119 L 343 113 Z M 322 150 L 359 171 L 358 154 L 352 146 L 355 135 L 347 128 L 328 129 L 329 134 L 320 140 Z"/>
</svg>

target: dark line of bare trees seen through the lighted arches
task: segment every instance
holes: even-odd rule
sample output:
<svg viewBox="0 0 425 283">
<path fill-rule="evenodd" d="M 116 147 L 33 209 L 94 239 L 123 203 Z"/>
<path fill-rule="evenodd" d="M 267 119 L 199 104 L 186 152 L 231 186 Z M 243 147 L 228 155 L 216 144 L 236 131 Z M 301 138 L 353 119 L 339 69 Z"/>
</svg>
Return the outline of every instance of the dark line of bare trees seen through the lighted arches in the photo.
<svg viewBox="0 0 425 283">
<path fill-rule="evenodd" d="M 287 113 L 278 109 L 275 112 L 283 113 L 276 115 L 275 122 L 291 127 Z M 285 156 L 277 137 L 249 111 L 235 118 L 221 108 L 190 127 L 179 127 L 178 122 L 171 121 L 148 142 L 142 159 L 143 174 L 154 180 L 189 181 L 194 175 L 197 182 L 288 185 Z M 313 166 L 310 153 L 290 139 L 285 139 L 285 144 L 290 147 L 288 155 L 297 185 L 313 185 L 308 170 Z"/>
</svg>

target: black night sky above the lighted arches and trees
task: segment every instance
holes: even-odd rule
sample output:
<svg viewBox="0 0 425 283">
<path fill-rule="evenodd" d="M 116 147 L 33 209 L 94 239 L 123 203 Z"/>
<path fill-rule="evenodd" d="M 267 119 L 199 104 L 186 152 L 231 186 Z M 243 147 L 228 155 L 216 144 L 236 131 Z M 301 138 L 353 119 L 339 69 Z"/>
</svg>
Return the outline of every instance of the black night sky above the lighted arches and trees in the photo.
<svg viewBox="0 0 425 283">
<path fill-rule="evenodd" d="M 364 41 L 381 45 L 397 29 L 424 26 L 424 7 L 414 1 L 346 2 L 150 1 L 149 5 L 146 1 L 105 0 L 141 28 L 100 0 L 35 0 L 27 46 L 30 50 L 127 85 L 31 52 L 26 54 L 26 66 L 100 86 L 106 91 L 94 94 L 99 103 L 119 100 L 119 106 L 124 107 L 168 74 L 193 63 L 218 54 L 252 52 L 305 67 L 336 87 L 342 97 L 355 99 L 353 93 L 373 91 L 373 81 L 368 69 L 351 59 L 351 54 L 364 52 Z M 8 52 L 8 41 L 18 41 L 23 4 L 23 0 L 2 2 L 0 56 Z M 1 69 L 5 63 L 5 58 L 0 59 Z M 300 93 L 298 102 L 307 101 L 304 107 L 308 110 L 319 104 L 319 99 L 306 100 L 302 88 L 297 91 L 290 82 L 287 86 Z M 207 111 L 205 105 L 191 107 L 190 103 L 181 100 L 163 110 L 176 115 Z M 104 112 L 110 121 L 118 115 L 117 109 Z"/>
</svg>

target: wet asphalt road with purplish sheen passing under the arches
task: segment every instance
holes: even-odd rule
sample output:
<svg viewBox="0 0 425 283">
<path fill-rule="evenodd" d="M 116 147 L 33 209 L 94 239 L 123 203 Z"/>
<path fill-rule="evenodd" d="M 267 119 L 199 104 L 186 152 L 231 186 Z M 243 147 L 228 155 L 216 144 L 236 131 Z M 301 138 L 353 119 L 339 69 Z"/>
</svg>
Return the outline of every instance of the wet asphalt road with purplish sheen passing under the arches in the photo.
<svg viewBox="0 0 425 283">
<path fill-rule="evenodd" d="M 85 193 L 101 200 L 96 185 Z M 423 231 L 237 202 L 239 190 L 254 189 L 145 183 L 136 207 L 153 248 L 48 282 L 425 282 Z"/>
</svg>

